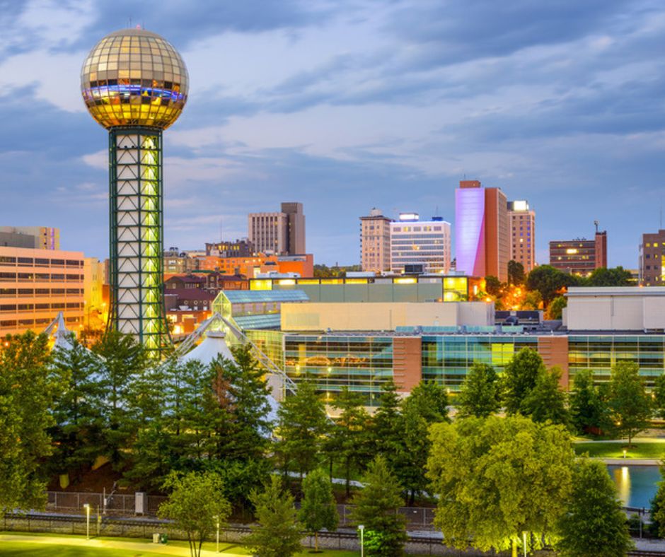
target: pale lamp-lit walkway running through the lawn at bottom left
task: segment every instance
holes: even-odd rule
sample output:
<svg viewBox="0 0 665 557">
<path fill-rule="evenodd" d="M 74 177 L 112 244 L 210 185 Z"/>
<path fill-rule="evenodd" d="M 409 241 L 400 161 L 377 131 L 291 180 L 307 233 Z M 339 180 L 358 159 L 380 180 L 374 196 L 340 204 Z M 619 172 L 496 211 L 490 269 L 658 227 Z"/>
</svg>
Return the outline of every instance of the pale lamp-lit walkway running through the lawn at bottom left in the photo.
<svg viewBox="0 0 665 557">
<path fill-rule="evenodd" d="M 13 534 L 0 534 L 0 542 L 2 541 L 19 541 L 30 544 L 46 544 L 46 545 L 67 545 L 67 546 L 85 546 L 88 548 L 98 547 L 105 549 L 127 549 L 128 551 L 140 551 L 141 553 L 155 553 L 156 555 L 178 555 L 188 556 L 190 550 L 187 547 L 168 546 L 163 544 L 146 544 L 140 541 L 116 541 L 112 539 L 85 539 L 81 537 L 64 537 L 64 536 L 30 536 L 28 535 L 13 535 Z M 215 553 L 203 549 L 201 551 L 202 557 L 214 557 L 224 555 L 227 557 L 247 557 L 246 553 L 233 553 L 230 551 L 220 551 Z"/>
</svg>

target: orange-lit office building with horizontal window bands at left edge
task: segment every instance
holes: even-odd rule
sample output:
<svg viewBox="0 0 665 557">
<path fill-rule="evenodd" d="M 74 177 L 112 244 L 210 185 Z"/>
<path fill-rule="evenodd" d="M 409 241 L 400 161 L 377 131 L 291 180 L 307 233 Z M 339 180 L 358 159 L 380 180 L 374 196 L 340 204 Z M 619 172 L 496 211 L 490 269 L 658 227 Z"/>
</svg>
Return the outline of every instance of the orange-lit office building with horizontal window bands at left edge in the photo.
<svg viewBox="0 0 665 557">
<path fill-rule="evenodd" d="M 41 332 L 61 311 L 82 329 L 84 267 L 81 252 L 0 247 L 0 336 Z"/>
</svg>

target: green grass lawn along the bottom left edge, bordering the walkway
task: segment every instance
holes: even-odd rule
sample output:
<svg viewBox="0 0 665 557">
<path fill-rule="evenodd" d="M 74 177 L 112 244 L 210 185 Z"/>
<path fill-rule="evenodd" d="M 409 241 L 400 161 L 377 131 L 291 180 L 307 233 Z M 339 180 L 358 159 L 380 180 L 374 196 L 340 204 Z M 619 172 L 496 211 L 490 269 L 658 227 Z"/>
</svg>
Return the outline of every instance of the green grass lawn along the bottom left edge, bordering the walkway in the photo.
<svg viewBox="0 0 665 557">
<path fill-rule="evenodd" d="M 122 549 L 121 547 L 117 548 L 106 548 L 106 547 L 85 547 L 85 546 L 76 546 L 68 545 L 67 539 L 71 540 L 81 540 L 80 536 L 67 536 L 67 535 L 54 535 L 50 534 L 28 534 L 23 532 L 0 532 L 0 535 L 12 535 L 12 536 L 30 536 L 30 537 L 57 537 L 61 538 L 62 542 L 53 543 L 53 544 L 40 544 L 33 541 L 20 541 L 12 539 L 11 541 L 1 541 L 0 542 L 0 555 L 1 556 L 36 556 L 36 557 L 47 557 L 52 555 L 63 556 L 63 557 L 88 557 L 88 556 L 100 556 L 100 557 L 158 557 L 163 556 L 166 553 L 162 553 L 160 549 L 167 548 L 182 548 L 182 555 L 188 556 L 189 549 L 186 541 L 173 540 L 169 541 L 165 546 L 153 545 L 149 540 L 138 539 L 138 538 L 110 538 L 110 537 L 100 537 L 98 540 L 108 541 L 109 544 L 117 542 L 118 545 L 122 545 L 124 542 L 129 542 L 132 544 L 145 544 L 145 549 L 137 551 L 137 549 Z M 215 544 L 207 542 L 203 544 L 203 549 L 208 551 L 214 551 Z M 240 555 L 250 555 L 249 551 L 243 546 L 238 546 L 236 544 L 219 544 L 219 549 L 224 552 L 229 551 L 233 554 Z M 222 553 L 223 554 L 223 553 Z M 173 555 L 173 553 L 171 553 Z M 308 549 L 303 550 L 299 553 L 299 556 L 311 556 L 312 553 Z M 321 553 L 316 553 L 317 556 L 322 557 L 352 557 L 357 556 L 357 553 L 353 551 L 323 551 Z"/>
</svg>

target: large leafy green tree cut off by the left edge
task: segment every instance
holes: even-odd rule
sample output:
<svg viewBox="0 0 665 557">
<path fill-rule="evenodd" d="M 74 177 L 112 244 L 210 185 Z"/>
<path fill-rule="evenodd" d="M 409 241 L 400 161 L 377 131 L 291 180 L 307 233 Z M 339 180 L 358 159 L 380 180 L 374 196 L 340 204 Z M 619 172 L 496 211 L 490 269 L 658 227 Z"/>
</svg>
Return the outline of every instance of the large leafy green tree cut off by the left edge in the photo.
<svg viewBox="0 0 665 557">
<path fill-rule="evenodd" d="M 43 460 L 52 452 L 54 397 L 47 336 L 7 336 L 0 349 L 0 512 L 43 508 Z"/>
</svg>

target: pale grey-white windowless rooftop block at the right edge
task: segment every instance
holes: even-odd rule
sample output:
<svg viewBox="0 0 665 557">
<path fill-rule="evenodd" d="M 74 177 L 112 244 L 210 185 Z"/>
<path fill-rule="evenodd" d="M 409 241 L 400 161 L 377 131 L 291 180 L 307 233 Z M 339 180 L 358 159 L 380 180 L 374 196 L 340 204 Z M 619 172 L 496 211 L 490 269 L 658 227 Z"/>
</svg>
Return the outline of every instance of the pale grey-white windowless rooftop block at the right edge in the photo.
<svg viewBox="0 0 665 557">
<path fill-rule="evenodd" d="M 665 286 L 569 288 L 567 298 L 569 331 L 665 329 Z"/>
</svg>

